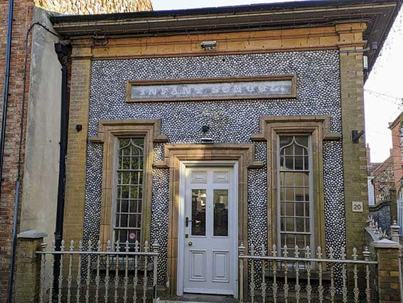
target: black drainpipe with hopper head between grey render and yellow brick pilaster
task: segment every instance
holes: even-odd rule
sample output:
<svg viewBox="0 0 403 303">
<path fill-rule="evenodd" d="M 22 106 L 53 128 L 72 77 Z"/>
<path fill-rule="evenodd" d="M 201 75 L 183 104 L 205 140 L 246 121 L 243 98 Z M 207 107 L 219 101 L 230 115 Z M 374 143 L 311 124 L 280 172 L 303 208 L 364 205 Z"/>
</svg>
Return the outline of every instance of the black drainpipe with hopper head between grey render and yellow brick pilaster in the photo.
<svg viewBox="0 0 403 303">
<path fill-rule="evenodd" d="M 63 216 L 65 211 L 65 158 L 67 154 L 67 129 L 68 129 L 68 58 L 70 55 L 70 43 L 55 43 L 55 51 L 62 65 L 62 102 L 60 115 L 60 159 L 58 179 L 58 206 L 56 211 L 55 247 L 60 250 L 63 240 Z M 53 267 L 54 287 L 58 287 L 60 273 L 60 255 L 55 255 Z"/>
</svg>

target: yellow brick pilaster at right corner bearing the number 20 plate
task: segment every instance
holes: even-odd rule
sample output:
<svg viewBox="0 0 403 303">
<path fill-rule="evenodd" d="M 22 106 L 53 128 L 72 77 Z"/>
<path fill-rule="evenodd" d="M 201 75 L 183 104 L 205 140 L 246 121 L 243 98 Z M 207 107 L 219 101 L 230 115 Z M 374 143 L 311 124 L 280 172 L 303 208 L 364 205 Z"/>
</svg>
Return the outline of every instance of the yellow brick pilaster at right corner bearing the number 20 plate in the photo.
<svg viewBox="0 0 403 303">
<path fill-rule="evenodd" d="M 343 127 L 343 170 L 345 194 L 345 229 L 347 234 L 347 252 L 353 248 L 362 251 L 365 247 L 367 206 L 367 171 L 365 139 L 353 144 L 352 131 L 365 129 L 364 119 L 364 75 L 362 68 L 362 31 L 364 23 L 340 24 L 340 85 L 341 111 Z M 348 53 L 346 50 L 354 50 Z M 353 201 L 362 202 L 363 212 L 353 212 Z"/>
</svg>

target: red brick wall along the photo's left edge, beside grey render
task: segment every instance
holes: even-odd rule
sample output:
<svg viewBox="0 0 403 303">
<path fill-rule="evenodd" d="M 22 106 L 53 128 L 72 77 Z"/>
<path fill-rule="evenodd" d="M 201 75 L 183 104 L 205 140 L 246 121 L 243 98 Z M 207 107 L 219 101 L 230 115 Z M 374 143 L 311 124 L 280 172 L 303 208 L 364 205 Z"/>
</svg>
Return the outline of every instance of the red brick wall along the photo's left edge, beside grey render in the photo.
<svg viewBox="0 0 403 303">
<path fill-rule="evenodd" d="M 0 95 L 3 95 L 4 72 L 7 41 L 8 1 L 0 1 Z M 9 106 L 4 144 L 4 181 L 1 186 L 0 201 L 0 302 L 6 302 L 6 289 L 9 279 L 11 258 L 11 235 L 14 217 L 14 198 L 16 189 L 18 142 L 20 137 L 21 101 L 23 93 L 23 64 L 25 36 L 33 18 L 33 1 L 14 1 L 14 23 L 11 48 L 11 78 L 9 86 Z M 31 50 L 31 46 L 28 47 Z M 28 56 L 29 58 L 29 56 Z M 28 65 L 29 73 L 29 65 Z M 27 83 L 28 83 L 27 75 Z M 28 90 L 28 85 L 26 86 Z M 28 95 L 26 96 L 28 105 Z M 0 99 L 2 102 L 2 97 Z M 1 112 L 1 107 L 0 107 Z M 26 112 L 25 112 L 26 113 Z M 23 117 L 26 124 L 26 115 Z M 25 147 L 25 134 L 23 134 Z M 23 149 L 24 152 L 24 149 Z M 24 154 L 23 154 L 24 156 Z M 23 159 L 22 159 L 23 161 Z M 22 176 L 21 176 L 22 179 Z M 22 185 L 21 185 L 22 186 Z M 18 220 L 19 221 L 19 220 Z"/>
</svg>

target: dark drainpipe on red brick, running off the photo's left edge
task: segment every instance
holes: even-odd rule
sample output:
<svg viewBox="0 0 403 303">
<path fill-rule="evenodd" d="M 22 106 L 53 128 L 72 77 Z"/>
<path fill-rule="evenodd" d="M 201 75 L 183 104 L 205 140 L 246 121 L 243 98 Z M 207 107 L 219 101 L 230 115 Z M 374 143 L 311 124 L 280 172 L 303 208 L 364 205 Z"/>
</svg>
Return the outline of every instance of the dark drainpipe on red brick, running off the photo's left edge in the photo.
<svg viewBox="0 0 403 303">
<path fill-rule="evenodd" d="M 4 142 L 6 142 L 7 106 L 9 104 L 11 34 L 13 32 L 13 9 L 14 9 L 14 0 L 9 0 L 9 17 L 8 17 L 8 21 L 7 21 L 6 72 L 4 74 L 3 107 L 1 110 L 0 201 L 1 201 L 1 185 L 3 184 L 3 159 L 4 159 Z"/>
</svg>

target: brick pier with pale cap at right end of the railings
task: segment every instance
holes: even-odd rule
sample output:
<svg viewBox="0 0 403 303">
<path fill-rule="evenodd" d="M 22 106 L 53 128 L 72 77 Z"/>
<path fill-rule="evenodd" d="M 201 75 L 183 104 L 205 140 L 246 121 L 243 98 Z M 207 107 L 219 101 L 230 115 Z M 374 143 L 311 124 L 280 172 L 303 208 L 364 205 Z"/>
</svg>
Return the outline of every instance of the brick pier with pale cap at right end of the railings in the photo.
<svg viewBox="0 0 403 303">
<path fill-rule="evenodd" d="M 377 290 L 379 302 L 402 302 L 402 278 L 400 273 L 400 249 L 402 245 L 387 239 L 370 244 L 377 255 Z"/>
</svg>

